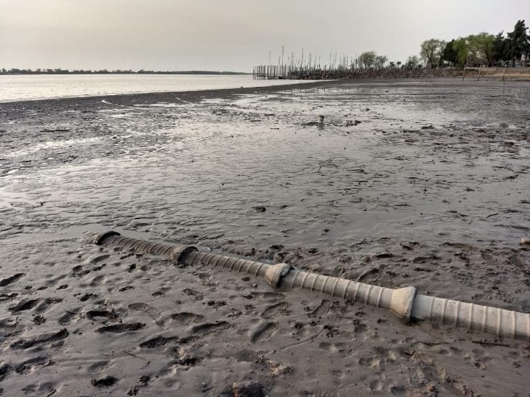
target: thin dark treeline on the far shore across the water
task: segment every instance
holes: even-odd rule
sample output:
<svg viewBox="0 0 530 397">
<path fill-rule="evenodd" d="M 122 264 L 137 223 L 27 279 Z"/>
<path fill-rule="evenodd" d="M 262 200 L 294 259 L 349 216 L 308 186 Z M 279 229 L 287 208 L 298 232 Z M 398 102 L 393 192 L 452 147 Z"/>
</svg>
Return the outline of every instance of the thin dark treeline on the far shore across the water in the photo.
<svg viewBox="0 0 530 397">
<path fill-rule="evenodd" d="M 159 71 L 159 70 L 68 70 L 68 69 L 0 69 L 0 74 L 248 74 L 244 72 L 215 72 L 212 70 L 181 70 L 181 71 Z"/>
</svg>

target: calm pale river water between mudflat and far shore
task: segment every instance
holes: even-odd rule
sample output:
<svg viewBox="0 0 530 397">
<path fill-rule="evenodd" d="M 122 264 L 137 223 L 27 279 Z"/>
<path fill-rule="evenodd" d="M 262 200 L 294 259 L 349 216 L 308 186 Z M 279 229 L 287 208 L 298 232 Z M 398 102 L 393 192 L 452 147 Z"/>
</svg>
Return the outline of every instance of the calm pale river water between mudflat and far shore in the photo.
<svg viewBox="0 0 530 397">
<path fill-rule="evenodd" d="M 210 74 L 84 74 L 0 76 L 0 102 L 140 92 L 212 90 L 299 83 L 253 80 L 251 75 Z"/>
</svg>

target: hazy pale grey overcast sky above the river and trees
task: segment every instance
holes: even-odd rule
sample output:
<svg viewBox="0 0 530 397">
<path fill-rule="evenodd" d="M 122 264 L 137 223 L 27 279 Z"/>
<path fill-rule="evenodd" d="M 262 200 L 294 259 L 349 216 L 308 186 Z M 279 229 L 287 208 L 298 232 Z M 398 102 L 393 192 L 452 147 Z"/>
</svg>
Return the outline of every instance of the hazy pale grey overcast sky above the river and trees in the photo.
<svg viewBox="0 0 530 397">
<path fill-rule="evenodd" d="M 251 71 L 286 54 L 389 60 L 530 25 L 530 0 L 0 0 L 0 68 Z"/>
</svg>

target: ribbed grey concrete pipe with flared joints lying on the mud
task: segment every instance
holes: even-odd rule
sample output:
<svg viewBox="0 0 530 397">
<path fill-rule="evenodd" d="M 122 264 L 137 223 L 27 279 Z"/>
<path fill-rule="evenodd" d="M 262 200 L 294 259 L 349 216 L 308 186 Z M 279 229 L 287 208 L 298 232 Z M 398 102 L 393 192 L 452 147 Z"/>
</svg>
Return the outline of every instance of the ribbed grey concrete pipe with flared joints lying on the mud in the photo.
<svg viewBox="0 0 530 397">
<path fill-rule="evenodd" d="M 302 272 L 286 263 L 268 265 L 231 256 L 199 252 L 192 246 L 149 243 L 120 236 L 117 232 L 95 234 L 92 242 L 98 245 L 116 245 L 138 253 L 165 256 L 174 263 L 210 265 L 264 277 L 268 285 L 275 289 L 309 289 L 336 298 L 383 307 L 389 309 L 404 323 L 409 323 L 412 319 L 451 323 L 473 331 L 530 341 L 530 314 L 420 295 L 416 294 L 415 287 L 400 289 L 378 287 L 344 278 Z"/>
</svg>

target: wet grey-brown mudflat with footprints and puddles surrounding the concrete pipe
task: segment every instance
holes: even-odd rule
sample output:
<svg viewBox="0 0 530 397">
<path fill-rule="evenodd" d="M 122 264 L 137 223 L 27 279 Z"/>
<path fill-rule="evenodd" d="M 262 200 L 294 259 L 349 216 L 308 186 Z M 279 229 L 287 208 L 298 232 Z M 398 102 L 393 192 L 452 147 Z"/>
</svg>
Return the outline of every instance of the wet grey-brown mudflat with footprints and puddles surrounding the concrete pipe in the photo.
<svg viewBox="0 0 530 397">
<path fill-rule="evenodd" d="M 528 342 L 84 232 L 530 312 L 529 99 L 432 79 L 1 103 L 1 394 L 527 396 Z"/>
</svg>

